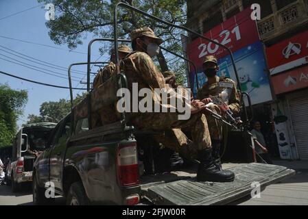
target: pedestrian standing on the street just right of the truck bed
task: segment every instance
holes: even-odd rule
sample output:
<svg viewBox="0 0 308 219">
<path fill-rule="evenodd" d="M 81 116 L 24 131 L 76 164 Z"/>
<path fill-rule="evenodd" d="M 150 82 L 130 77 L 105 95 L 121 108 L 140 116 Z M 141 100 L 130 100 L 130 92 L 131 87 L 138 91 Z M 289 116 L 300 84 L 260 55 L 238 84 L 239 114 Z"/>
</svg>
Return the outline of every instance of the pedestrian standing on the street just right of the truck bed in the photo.
<svg viewBox="0 0 308 219">
<path fill-rule="evenodd" d="M 266 143 L 264 140 L 264 136 L 261 133 L 261 123 L 259 121 L 254 122 L 254 128 L 251 130 L 252 136 L 254 136 L 254 146 L 256 149 L 256 153 L 263 159 L 261 159 L 257 155 L 257 162 L 267 164 L 273 164 L 272 159 L 270 159 L 270 155 L 268 154 L 268 149 L 266 148 Z"/>
</svg>

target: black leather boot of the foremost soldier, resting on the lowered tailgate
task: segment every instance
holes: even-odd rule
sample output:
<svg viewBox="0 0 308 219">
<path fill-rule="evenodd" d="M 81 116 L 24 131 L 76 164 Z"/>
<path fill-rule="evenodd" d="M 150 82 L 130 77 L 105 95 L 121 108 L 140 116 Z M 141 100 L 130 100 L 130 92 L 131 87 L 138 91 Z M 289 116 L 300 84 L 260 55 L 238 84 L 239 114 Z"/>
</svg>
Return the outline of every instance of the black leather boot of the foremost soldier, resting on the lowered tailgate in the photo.
<svg viewBox="0 0 308 219">
<path fill-rule="evenodd" d="M 198 181 L 230 182 L 234 180 L 234 173 L 230 170 L 222 170 L 217 166 L 212 157 L 212 149 L 199 151 L 200 164 L 198 166 Z"/>
</svg>

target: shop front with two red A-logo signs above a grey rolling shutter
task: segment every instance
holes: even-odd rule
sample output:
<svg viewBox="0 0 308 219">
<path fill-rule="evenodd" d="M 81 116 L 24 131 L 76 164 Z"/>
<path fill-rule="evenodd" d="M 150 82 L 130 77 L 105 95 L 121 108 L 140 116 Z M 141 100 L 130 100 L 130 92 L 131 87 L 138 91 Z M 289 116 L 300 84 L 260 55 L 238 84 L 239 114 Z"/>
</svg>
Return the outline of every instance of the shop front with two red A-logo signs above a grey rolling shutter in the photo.
<svg viewBox="0 0 308 219">
<path fill-rule="evenodd" d="M 266 48 L 277 103 L 272 118 L 282 159 L 308 159 L 308 31 Z"/>
</svg>

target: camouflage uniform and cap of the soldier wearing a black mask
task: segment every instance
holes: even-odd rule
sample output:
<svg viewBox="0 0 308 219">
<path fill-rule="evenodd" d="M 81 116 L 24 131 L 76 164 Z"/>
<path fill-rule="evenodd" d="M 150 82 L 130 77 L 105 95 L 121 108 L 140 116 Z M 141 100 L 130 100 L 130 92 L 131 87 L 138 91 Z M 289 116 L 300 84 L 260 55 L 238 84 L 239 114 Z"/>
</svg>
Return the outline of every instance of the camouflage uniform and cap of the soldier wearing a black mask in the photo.
<svg viewBox="0 0 308 219">
<path fill-rule="evenodd" d="M 206 57 L 205 62 L 215 62 L 217 64 L 217 60 L 213 55 L 209 55 Z M 239 93 L 237 92 L 237 86 L 235 81 L 233 81 L 230 78 L 227 77 L 218 77 L 215 76 L 216 82 L 209 85 L 208 82 L 204 83 L 204 86 L 198 90 L 197 93 L 197 99 L 205 99 L 209 96 L 217 96 L 222 92 L 220 82 L 227 82 L 231 83 L 233 88 L 230 93 L 229 101 L 228 101 L 228 107 L 230 110 L 237 114 L 240 111 L 240 99 L 239 99 Z M 209 107 L 210 110 L 213 112 L 216 112 L 217 114 L 222 115 L 222 112 L 220 110 L 220 107 L 217 105 L 212 105 Z M 206 113 L 206 119 L 209 123 L 209 130 L 211 133 L 211 139 L 212 140 L 222 140 L 222 123 L 219 120 L 216 120 L 213 116 L 211 116 L 209 113 Z"/>
</svg>

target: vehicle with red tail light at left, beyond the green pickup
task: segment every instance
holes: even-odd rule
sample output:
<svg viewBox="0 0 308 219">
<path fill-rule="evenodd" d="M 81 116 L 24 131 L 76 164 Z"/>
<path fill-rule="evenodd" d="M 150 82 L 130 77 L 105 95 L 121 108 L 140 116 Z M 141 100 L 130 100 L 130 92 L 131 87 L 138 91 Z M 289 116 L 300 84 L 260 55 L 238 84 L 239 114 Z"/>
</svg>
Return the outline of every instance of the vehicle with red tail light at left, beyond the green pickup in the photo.
<svg viewBox="0 0 308 219">
<path fill-rule="evenodd" d="M 23 183 L 32 181 L 34 161 L 45 150 L 54 127 L 56 123 L 33 123 L 24 125 L 16 134 L 7 169 L 7 181 L 8 185 L 12 185 L 12 192 L 18 192 Z"/>
</svg>

